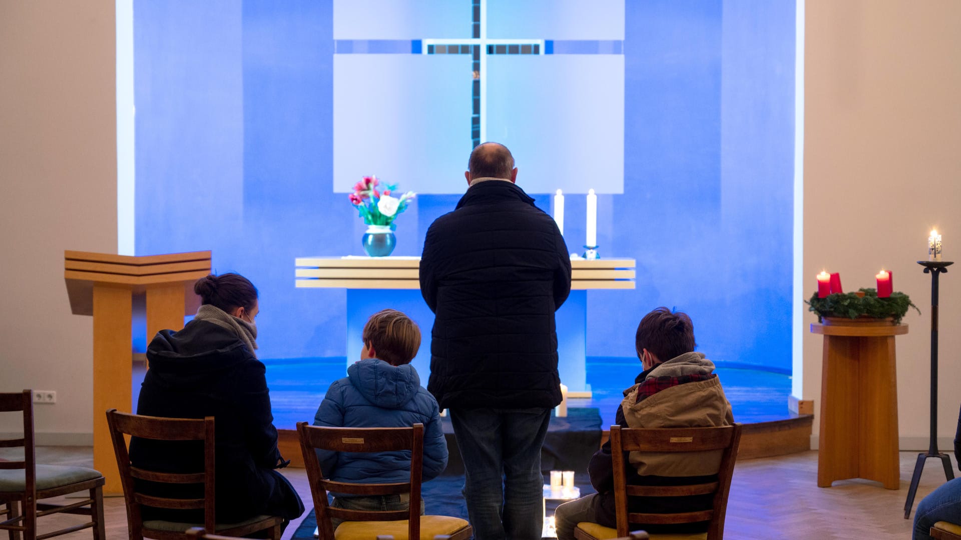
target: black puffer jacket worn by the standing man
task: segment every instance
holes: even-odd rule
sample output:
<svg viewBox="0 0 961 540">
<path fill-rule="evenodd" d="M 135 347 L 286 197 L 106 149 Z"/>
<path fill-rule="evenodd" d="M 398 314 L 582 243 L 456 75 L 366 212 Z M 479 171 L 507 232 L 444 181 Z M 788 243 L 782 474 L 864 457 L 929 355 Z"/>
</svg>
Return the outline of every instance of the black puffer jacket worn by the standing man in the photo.
<svg viewBox="0 0 961 540">
<path fill-rule="evenodd" d="M 560 403 L 554 311 L 570 293 L 571 260 L 523 189 L 471 186 L 431 224 L 420 284 L 435 314 L 428 390 L 442 409 Z"/>
</svg>

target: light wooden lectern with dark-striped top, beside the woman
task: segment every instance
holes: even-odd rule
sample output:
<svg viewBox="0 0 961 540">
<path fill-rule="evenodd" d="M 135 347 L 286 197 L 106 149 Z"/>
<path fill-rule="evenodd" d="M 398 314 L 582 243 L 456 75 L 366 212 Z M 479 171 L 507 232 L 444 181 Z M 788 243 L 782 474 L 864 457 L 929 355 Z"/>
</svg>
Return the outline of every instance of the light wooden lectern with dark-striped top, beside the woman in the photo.
<svg viewBox="0 0 961 540">
<path fill-rule="evenodd" d="M 63 252 L 63 279 L 75 315 L 93 315 L 93 468 L 105 493 L 121 493 L 109 408 L 133 410 L 131 377 L 134 305 L 147 316 L 148 341 L 163 329 L 181 330 L 200 299 L 193 283 L 210 273 L 210 252 L 127 257 Z"/>
</svg>

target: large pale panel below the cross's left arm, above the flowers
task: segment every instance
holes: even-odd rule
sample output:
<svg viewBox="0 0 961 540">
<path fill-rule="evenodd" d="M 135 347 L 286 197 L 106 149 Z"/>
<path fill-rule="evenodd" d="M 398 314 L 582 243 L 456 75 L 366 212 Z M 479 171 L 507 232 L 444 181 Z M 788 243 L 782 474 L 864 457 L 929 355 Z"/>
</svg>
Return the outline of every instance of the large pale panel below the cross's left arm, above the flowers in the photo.
<svg viewBox="0 0 961 540">
<path fill-rule="evenodd" d="M 469 55 L 334 55 L 333 190 L 361 177 L 463 193 L 471 144 Z"/>
</svg>

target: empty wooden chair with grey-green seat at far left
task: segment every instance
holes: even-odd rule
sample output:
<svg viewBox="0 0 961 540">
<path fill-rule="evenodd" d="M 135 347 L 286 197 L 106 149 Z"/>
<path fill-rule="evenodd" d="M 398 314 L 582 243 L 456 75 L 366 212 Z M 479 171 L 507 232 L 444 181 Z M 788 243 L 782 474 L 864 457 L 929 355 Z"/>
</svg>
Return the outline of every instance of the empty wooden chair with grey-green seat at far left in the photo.
<svg viewBox="0 0 961 540">
<path fill-rule="evenodd" d="M 25 540 L 37 540 L 92 528 L 94 540 L 105 540 L 104 476 L 85 467 L 37 465 L 33 396 L 31 390 L 0 394 L 0 412 L 23 413 L 23 438 L 0 440 L 0 448 L 23 447 L 22 461 L 0 461 L 0 503 L 6 503 L 0 515 L 7 518 L 0 522 L 0 529 L 9 531 L 10 540 L 18 540 L 21 532 Z M 87 491 L 89 496 L 69 504 L 39 503 L 42 499 L 78 491 Z M 37 518 L 59 512 L 90 516 L 90 521 L 37 535 Z"/>
</svg>

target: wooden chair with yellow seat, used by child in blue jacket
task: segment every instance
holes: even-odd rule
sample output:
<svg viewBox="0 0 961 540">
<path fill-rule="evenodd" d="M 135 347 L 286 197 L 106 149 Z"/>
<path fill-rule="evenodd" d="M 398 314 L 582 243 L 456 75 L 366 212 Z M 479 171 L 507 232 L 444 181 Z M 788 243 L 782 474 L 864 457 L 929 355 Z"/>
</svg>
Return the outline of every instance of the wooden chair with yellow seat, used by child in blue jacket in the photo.
<svg viewBox="0 0 961 540">
<path fill-rule="evenodd" d="M 411 428 L 322 428 L 297 423 L 301 451 L 307 466 L 310 493 L 316 511 L 320 540 L 334 540 L 331 518 L 348 520 L 337 528 L 336 540 L 371 540 L 391 535 L 397 540 L 448 535 L 451 540 L 470 538 L 473 529 L 460 518 L 421 516 L 421 472 L 424 467 L 424 425 Z M 316 449 L 334 452 L 410 451 L 410 480 L 396 483 L 348 483 L 324 478 Z M 408 510 L 362 511 L 327 504 L 328 490 L 353 495 L 410 494 Z"/>
</svg>

